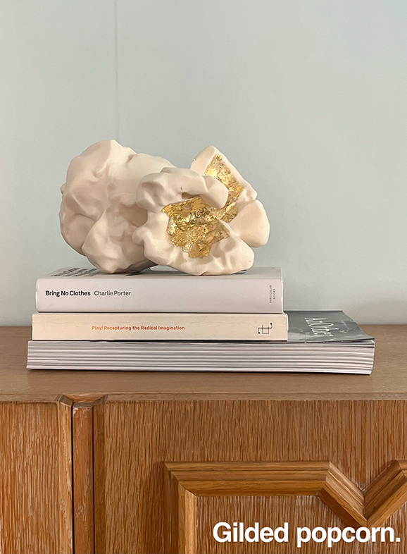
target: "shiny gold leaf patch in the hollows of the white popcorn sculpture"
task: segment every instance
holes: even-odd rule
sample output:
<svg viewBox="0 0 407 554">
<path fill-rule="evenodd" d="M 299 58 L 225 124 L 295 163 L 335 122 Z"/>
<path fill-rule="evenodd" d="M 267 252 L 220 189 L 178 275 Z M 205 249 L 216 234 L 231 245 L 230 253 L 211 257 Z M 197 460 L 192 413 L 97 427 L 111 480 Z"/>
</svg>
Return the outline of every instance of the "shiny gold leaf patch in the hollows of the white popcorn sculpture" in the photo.
<svg viewBox="0 0 407 554">
<path fill-rule="evenodd" d="M 208 256 L 215 242 L 229 236 L 229 231 L 221 222 L 230 223 L 237 216 L 236 201 L 243 190 L 232 171 L 223 163 L 220 154 L 213 157 L 205 175 L 215 177 L 227 187 L 227 201 L 223 208 L 208 206 L 201 196 L 168 204 L 163 208 L 169 219 L 168 240 L 188 252 L 190 258 Z"/>
</svg>

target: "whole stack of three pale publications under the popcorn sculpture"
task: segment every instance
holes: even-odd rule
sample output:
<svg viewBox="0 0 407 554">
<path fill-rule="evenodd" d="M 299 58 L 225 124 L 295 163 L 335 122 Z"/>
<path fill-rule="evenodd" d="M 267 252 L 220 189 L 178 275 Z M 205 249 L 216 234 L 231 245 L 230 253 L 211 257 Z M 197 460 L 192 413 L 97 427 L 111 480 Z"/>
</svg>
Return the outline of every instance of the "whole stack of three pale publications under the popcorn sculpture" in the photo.
<svg viewBox="0 0 407 554">
<path fill-rule="evenodd" d="M 64 268 L 37 281 L 30 369 L 370 373 L 343 312 L 283 312 L 278 268 L 197 277 Z"/>
</svg>

